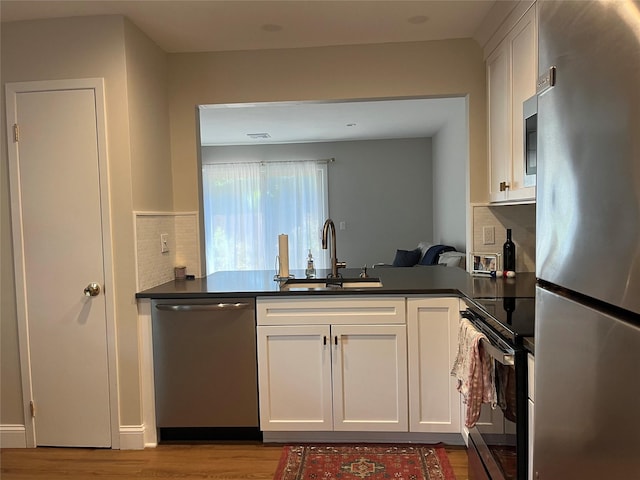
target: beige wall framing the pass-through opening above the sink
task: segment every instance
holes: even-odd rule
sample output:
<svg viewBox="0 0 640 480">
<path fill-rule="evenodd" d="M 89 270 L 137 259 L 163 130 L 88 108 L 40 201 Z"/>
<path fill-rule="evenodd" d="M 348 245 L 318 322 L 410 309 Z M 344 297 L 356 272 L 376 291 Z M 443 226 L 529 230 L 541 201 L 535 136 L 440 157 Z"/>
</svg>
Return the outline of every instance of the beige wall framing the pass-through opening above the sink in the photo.
<svg viewBox="0 0 640 480">
<path fill-rule="evenodd" d="M 198 104 L 469 96 L 471 200 L 485 201 L 485 67 L 470 39 L 169 54 L 176 210 L 198 209 Z"/>
</svg>

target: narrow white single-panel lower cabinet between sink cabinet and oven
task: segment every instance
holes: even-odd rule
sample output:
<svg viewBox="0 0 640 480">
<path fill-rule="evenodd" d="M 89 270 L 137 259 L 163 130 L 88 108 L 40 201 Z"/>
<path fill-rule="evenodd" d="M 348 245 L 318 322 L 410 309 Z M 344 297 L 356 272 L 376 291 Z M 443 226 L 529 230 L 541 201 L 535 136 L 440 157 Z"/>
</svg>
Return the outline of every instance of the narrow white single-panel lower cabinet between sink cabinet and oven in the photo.
<svg viewBox="0 0 640 480">
<path fill-rule="evenodd" d="M 458 351 L 460 300 L 408 298 L 409 430 L 460 433 L 460 394 L 451 367 Z"/>
</svg>

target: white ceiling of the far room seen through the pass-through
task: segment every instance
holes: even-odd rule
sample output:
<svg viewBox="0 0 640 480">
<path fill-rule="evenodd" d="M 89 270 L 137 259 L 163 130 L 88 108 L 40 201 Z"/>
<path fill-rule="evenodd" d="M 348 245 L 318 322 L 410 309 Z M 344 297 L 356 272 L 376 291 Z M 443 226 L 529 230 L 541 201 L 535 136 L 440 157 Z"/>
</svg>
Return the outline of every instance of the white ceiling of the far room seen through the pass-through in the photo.
<svg viewBox="0 0 640 480">
<path fill-rule="evenodd" d="M 202 145 L 431 137 L 456 120 L 453 104 L 461 101 L 437 98 L 202 106 L 200 137 Z M 249 136 L 261 133 L 270 138 Z"/>
</svg>

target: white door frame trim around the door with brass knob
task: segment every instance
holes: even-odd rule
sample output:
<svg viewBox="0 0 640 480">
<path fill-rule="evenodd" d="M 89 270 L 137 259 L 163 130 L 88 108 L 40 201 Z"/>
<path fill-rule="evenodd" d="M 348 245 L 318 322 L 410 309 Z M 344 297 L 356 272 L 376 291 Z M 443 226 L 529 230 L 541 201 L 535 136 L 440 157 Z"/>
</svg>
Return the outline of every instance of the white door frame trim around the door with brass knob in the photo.
<svg viewBox="0 0 640 480">
<path fill-rule="evenodd" d="M 100 175 L 100 203 L 102 220 L 102 245 L 104 264 L 104 295 L 107 327 L 107 363 L 109 376 L 109 407 L 111 416 L 111 448 L 120 448 L 120 412 L 118 405 L 117 344 L 115 324 L 115 288 L 113 276 L 111 203 L 109 199 L 109 165 L 107 155 L 107 127 L 103 78 L 70 80 L 44 80 L 14 82 L 5 85 L 7 150 L 9 161 L 9 185 L 11 193 L 11 227 L 15 270 L 16 307 L 18 322 L 18 348 L 20 376 L 25 422 L 26 446 L 36 447 L 35 422 L 31 416 L 30 401 L 33 398 L 31 356 L 27 318 L 26 272 L 20 192 L 18 143 L 14 141 L 13 125 L 17 119 L 17 95 L 28 92 L 56 90 L 93 90 L 96 108 L 98 171 Z"/>
</svg>

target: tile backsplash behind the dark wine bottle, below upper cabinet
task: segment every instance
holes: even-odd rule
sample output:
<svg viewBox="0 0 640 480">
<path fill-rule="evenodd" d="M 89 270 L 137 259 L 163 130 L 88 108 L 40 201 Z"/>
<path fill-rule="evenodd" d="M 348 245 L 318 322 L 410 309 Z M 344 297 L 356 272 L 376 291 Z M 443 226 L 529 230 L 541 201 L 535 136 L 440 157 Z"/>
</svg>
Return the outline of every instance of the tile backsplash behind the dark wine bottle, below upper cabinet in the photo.
<svg viewBox="0 0 640 480">
<path fill-rule="evenodd" d="M 494 227 L 492 245 L 484 245 L 483 228 Z M 512 230 L 516 245 L 516 271 L 536 271 L 536 205 L 474 205 L 473 251 L 500 253 L 507 239 L 507 228 Z"/>
</svg>

